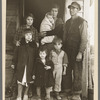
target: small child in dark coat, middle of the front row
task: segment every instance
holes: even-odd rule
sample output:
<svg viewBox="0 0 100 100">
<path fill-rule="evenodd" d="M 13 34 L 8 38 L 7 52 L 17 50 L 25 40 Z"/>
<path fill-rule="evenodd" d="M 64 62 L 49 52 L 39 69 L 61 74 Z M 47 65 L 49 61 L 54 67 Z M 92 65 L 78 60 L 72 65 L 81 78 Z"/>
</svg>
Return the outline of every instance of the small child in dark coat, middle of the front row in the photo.
<svg viewBox="0 0 100 100">
<path fill-rule="evenodd" d="M 53 63 L 47 60 L 47 49 L 41 47 L 39 50 L 39 59 L 35 64 L 35 85 L 37 87 L 37 95 L 41 100 L 41 87 L 45 87 L 46 97 L 45 99 L 50 100 L 50 92 L 54 84 L 53 79 Z"/>
</svg>

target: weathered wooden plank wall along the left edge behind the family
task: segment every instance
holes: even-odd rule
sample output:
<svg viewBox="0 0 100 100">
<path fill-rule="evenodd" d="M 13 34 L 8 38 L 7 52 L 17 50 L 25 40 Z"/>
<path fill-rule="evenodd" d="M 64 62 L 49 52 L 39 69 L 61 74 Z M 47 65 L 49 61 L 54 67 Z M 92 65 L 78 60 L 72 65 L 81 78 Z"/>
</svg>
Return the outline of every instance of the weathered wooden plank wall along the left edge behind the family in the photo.
<svg viewBox="0 0 100 100">
<path fill-rule="evenodd" d="M 19 0 L 7 0 L 6 2 L 6 77 L 5 87 L 10 86 L 13 70 L 11 69 L 13 57 L 13 39 L 19 17 Z"/>
</svg>

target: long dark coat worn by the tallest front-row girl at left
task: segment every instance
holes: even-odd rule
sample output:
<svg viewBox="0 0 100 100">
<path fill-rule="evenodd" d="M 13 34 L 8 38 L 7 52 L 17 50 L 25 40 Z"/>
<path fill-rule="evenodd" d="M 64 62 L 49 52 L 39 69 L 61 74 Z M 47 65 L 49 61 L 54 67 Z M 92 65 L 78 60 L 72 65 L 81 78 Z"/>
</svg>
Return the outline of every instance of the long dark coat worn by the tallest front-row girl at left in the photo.
<svg viewBox="0 0 100 100">
<path fill-rule="evenodd" d="M 16 66 L 16 74 L 18 81 L 22 82 L 25 65 L 27 66 L 26 67 L 27 83 L 32 81 L 34 63 L 37 55 L 36 52 L 37 52 L 37 46 L 34 41 L 26 43 L 25 39 L 21 40 L 21 45 L 17 47 L 13 59 L 13 63 Z"/>
</svg>

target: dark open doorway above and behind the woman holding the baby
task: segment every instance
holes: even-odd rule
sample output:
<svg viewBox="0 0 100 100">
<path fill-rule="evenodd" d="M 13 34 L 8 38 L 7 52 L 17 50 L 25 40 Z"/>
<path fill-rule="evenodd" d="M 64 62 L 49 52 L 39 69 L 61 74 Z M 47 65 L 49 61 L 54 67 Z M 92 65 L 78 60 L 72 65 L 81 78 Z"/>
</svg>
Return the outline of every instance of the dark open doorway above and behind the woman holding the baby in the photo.
<svg viewBox="0 0 100 100">
<path fill-rule="evenodd" d="M 24 0 L 24 15 L 31 12 L 35 16 L 34 26 L 39 30 L 40 23 L 46 12 L 50 11 L 52 4 L 60 7 L 58 17 L 63 18 L 65 0 Z"/>
</svg>

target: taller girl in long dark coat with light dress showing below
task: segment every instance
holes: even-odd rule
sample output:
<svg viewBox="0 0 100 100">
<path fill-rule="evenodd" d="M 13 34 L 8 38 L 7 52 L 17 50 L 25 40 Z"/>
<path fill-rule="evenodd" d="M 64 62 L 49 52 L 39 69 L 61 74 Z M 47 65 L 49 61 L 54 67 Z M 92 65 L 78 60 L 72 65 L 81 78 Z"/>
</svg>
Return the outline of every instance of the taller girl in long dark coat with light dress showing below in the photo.
<svg viewBox="0 0 100 100">
<path fill-rule="evenodd" d="M 25 92 L 23 100 L 28 99 L 29 84 L 32 82 L 32 75 L 34 70 L 34 62 L 36 58 L 36 43 L 32 40 L 32 31 L 26 29 L 25 38 L 21 39 L 21 45 L 16 49 L 13 65 L 16 66 L 16 75 L 18 83 L 18 96 L 17 100 L 22 100 L 23 86 Z"/>
</svg>

